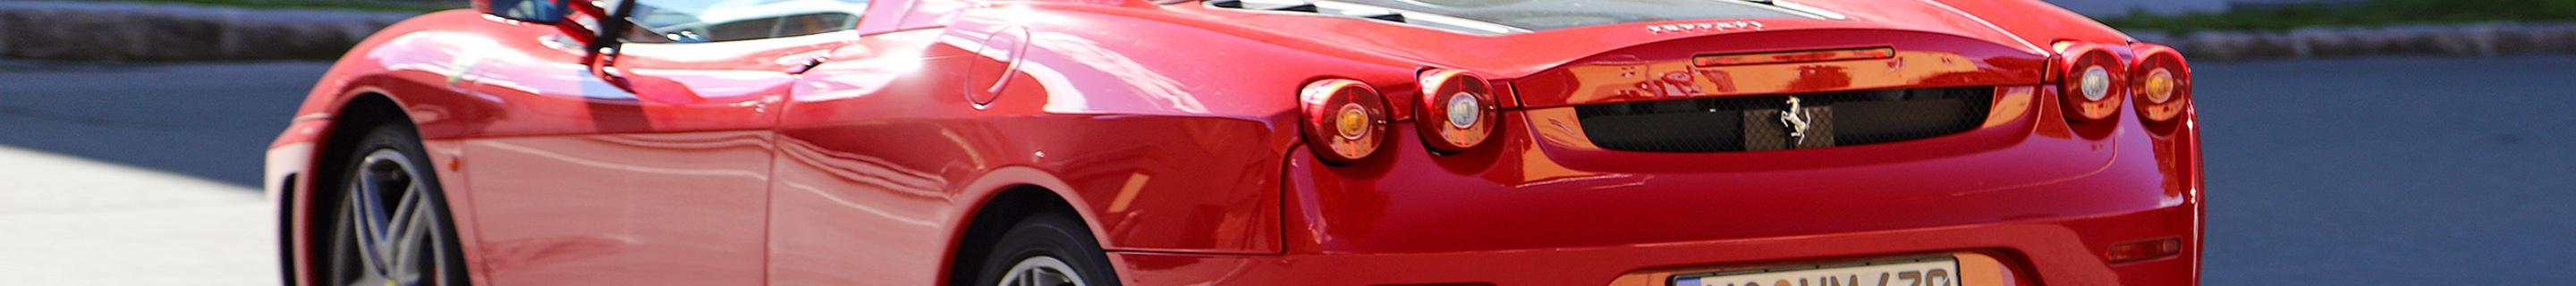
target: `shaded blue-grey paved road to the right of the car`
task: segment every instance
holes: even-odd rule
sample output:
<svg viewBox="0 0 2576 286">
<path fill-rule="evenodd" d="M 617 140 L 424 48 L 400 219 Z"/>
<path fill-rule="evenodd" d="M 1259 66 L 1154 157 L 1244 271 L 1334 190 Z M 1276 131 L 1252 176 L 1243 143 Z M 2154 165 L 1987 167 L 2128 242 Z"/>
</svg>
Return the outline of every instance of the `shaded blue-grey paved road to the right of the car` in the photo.
<svg viewBox="0 0 2576 286">
<path fill-rule="evenodd" d="M 2568 283 L 2576 57 L 2195 72 L 2210 286 Z"/>
</svg>

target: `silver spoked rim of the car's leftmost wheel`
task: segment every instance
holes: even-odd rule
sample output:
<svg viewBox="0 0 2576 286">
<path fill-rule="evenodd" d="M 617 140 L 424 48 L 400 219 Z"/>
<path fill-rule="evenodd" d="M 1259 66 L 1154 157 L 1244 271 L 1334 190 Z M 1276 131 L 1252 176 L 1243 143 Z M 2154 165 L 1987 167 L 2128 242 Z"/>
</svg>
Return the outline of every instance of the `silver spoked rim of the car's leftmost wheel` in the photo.
<svg viewBox="0 0 2576 286">
<path fill-rule="evenodd" d="M 420 167 L 397 149 L 368 152 L 340 198 L 332 234 L 332 278 L 345 286 L 425 286 L 446 260 L 430 253 L 443 237 Z"/>
</svg>

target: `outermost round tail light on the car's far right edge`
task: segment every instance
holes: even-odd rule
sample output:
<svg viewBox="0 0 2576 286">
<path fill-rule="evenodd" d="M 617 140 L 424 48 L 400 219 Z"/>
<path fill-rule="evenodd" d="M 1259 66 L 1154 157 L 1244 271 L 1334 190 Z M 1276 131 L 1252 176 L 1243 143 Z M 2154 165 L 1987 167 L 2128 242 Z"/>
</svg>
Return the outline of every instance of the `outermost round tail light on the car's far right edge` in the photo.
<svg viewBox="0 0 2576 286">
<path fill-rule="evenodd" d="M 2192 106 L 2192 64 L 2172 46 L 2141 44 L 2130 90 L 2138 93 L 2138 116 L 2146 121 L 2174 121 Z"/>
</svg>

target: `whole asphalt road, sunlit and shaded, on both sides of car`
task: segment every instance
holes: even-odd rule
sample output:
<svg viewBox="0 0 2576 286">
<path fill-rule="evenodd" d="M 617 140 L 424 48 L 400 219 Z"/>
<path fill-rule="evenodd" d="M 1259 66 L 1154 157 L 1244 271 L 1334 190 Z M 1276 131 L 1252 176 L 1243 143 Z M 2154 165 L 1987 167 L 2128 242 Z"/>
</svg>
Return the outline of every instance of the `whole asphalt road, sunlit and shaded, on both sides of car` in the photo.
<svg viewBox="0 0 2576 286">
<path fill-rule="evenodd" d="M 0 64 L 0 278 L 273 281 L 260 149 L 322 70 Z M 2210 286 L 2576 265 L 2576 57 L 2200 62 L 2197 82 Z"/>
</svg>

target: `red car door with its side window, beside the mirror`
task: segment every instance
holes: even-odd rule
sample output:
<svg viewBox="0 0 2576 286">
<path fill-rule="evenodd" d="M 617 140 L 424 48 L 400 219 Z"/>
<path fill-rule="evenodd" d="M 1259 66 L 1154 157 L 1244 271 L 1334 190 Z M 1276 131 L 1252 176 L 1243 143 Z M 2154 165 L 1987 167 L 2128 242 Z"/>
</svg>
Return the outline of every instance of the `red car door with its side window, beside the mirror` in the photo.
<svg viewBox="0 0 2576 286">
<path fill-rule="evenodd" d="M 608 3 L 623 5 L 623 3 Z M 502 39 L 466 139 L 479 273 L 502 286 L 755 286 L 793 72 L 855 0 L 636 0 L 618 44 Z M 608 8 L 616 10 L 616 8 Z M 611 31 L 616 31 L 611 26 Z"/>
</svg>

